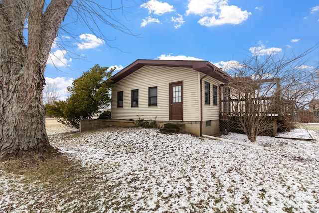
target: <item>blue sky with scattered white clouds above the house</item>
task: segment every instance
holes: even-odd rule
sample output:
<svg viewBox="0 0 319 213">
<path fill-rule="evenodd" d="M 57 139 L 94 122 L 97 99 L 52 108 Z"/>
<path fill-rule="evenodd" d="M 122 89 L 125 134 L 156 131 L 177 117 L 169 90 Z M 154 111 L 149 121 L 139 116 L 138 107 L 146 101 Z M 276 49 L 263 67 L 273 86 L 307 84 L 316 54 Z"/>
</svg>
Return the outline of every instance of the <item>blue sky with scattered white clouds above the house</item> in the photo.
<svg viewBox="0 0 319 213">
<path fill-rule="evenodd" d="M 117 1 L 112 3 L 113 8 L 118 6 Z M 99 23 L 107 40 L 75 23 L 75 13 L 68 13 L 62 25 L 72 36 L 59 33 L 44 73 L 62 99 L 66 87 L 95 64 L 116 67 L 114 73 L 136 59 L 208 60 L 224 67 L 254 51 L 301 53 L 319 42 L 319 0 L 124 0 L 124 4 L 127 7 L 112 11 L 111 17 L 134 35 Z M 308 63 L 305 66 L 319 63 L 318 50 Z"/>
</svg>

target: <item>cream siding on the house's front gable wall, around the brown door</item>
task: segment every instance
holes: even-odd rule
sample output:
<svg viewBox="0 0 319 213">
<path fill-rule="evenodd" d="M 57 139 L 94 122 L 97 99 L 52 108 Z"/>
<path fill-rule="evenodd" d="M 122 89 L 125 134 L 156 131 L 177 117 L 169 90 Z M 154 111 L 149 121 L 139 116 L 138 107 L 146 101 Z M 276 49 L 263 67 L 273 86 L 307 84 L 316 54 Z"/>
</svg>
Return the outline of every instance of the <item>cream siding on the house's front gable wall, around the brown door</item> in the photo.
<svg viewBox="0 0 319 213">
<path fill-rule="evenodd" d="M 183 120 L 199 121 L 199 74 L 191 68 L 144 66 L 114 84 L 113 119 L 169 120 L 169 83 L 182 81 Z M 157 87 L 157 106 L 149 106 L 149 88 Z M 139 106 L 131 107 L 131 91 L 139 90 Z M 123 91 L 123 108 L 117 108 L 117 92 Z"/>
</svg>

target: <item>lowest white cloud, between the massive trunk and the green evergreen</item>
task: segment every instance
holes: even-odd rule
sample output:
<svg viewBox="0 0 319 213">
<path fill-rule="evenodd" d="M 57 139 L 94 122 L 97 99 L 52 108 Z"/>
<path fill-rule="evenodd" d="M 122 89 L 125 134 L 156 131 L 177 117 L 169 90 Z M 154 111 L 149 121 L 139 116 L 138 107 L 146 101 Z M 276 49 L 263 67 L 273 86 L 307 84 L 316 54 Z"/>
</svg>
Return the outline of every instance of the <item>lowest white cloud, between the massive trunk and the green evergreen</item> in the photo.
<svg viewBox="0 0 319 213">
<path fill-rule="evenodd" d="M 73 78 L 56 77 L 50 78 L 45 77 L 45 83 L 56 85 L 57 92 L 59 94 L 58 100 L 65 100 L 68 97 L 67 87 L 72 86 Z"/>
</svg>

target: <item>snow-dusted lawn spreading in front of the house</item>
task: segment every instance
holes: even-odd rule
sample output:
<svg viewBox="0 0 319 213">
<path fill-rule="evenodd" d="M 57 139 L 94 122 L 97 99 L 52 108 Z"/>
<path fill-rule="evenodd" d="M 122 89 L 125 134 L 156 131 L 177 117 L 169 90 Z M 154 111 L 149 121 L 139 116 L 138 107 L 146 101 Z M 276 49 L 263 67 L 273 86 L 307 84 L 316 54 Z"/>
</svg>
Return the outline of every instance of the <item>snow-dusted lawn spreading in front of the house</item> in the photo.
<svg viewBox="0 0 319 213">
<path fill-rule="evenodd" d="M 47 186 L 37 183 L 42 194 L 30 197 L 34 185 L 0 171 L 0 212 L 10 203 L 11 212 L 77 212 L 79 205 L 108 213 L 319 212 L 319 142 L 258 137 L 255 144 L 267 149 L 256 149 L 157 129 L 58 132 L 48 129 L 51 144 L 80 160 L 96 177 L 94 187 L 45 193 Z M 309 132 L 289 135 L 305 138 Z M 250 143 L 239 134 L 222 137 Z M 85 185 L 83 180 L 78 181 Z M 73 192 L 74 199 L 59 199 Z"/>
</svg>

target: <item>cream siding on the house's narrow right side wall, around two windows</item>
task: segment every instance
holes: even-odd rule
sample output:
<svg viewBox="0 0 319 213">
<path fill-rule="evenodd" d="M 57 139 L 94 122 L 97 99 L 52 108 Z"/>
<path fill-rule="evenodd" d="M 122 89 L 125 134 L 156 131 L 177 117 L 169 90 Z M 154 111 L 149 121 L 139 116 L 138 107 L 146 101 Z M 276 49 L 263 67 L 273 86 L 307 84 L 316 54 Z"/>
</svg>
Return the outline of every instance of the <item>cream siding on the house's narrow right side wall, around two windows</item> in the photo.
<svg viewBox="0 0 319 213">
<path fill-rule="evenodd" d="M 200 73 L 200 77 L 203 77 L 204 74 Z M 205 81 L 210 83 L 210 104 L 205 104 Z M 219 120 L 219 85 L 222 82 L 206 76 L 202 79 L 202 97 L 203 97 L 203 121 L 210 120 Z M 217 105 L 213 104 L 213 86 L 217 86 Z"/>
</svg>

